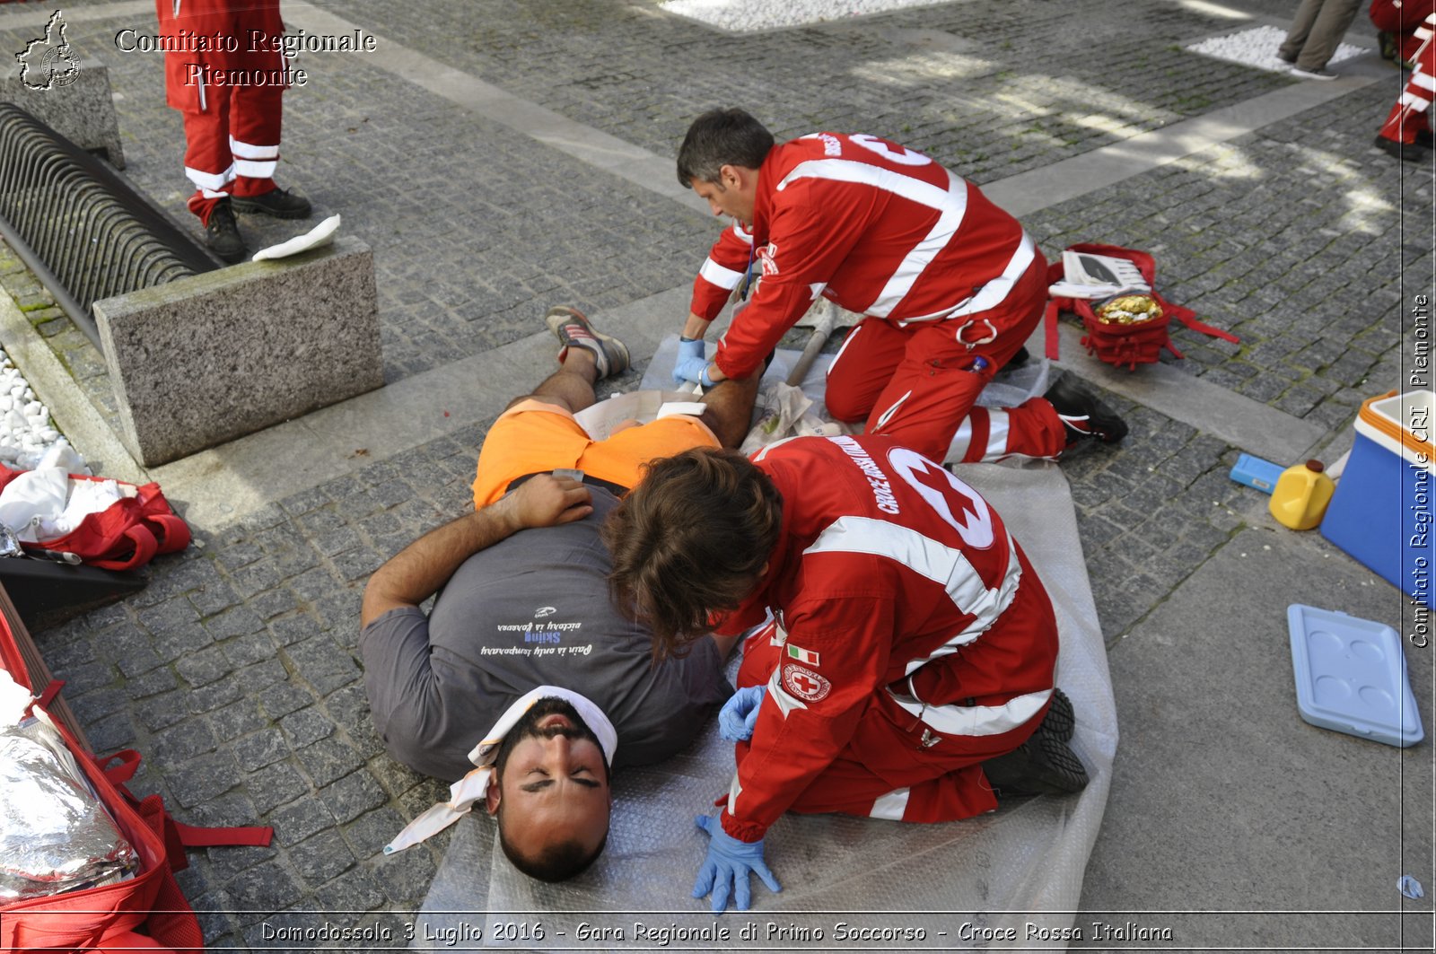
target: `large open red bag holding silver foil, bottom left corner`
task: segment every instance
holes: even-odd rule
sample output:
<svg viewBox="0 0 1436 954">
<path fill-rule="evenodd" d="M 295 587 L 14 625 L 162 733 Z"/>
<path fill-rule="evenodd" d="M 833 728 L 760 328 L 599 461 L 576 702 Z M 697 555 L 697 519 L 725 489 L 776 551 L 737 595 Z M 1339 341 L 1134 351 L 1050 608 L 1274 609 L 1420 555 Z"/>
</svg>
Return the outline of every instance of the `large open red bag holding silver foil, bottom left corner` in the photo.
<svg viewBox="0 0 1436 954">
<path fill-rule="evenodd" d="M 9 621 L 0 613 L 0 668 L 16 682 L 30 677 Z M 34 703 L 59 691 L 50 682 Z M 132 749 L 95 759 L 59 718 L 52 720 L 99 800 L 139 855 L 139 872 L 99 888 L 0 904 L 0 953 L 10 951 L 202 951 L 204 934 L 174 872 L 190 861 L 185 846 L 269 845 L 271 828 L 194 828 L 169 818 L 158 795 L 136 799 L 125 787 L 139 767 Z"/>
</svg>

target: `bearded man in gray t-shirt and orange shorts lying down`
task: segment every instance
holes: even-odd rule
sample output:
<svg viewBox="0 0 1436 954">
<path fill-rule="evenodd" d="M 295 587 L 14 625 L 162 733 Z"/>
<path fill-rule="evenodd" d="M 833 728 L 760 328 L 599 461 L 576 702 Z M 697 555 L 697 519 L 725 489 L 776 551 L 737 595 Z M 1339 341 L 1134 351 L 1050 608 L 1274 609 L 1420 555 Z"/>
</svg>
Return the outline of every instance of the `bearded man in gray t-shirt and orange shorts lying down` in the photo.
<svg viewBox="0 0 1436 954">
<path fill-rule="evenodd" d="M 652 665 L 649 631 L 609 599 L 599 527 L 646 461 L 737 445 L 757 378 L 714 388 L 698 417 L 593 441 L 573 415 L 597 381 L 628 369 L 628 349 L 573 309 L 547 322 L 560 369 L 490 428 L 475 510 L 375 570 L 359 648 L 389 754 L 445 780 L 493 764 L 485 805 L 504 852 L 560 881 L 603 849 L 610 767 L 679 751 L 731 693 L 722 664 L 734 636 L 704 636 Z M 563 468 L 582 476 L 553 473 Z M 435 593 L 425 615 L 419 603 Z"/>
</svg>

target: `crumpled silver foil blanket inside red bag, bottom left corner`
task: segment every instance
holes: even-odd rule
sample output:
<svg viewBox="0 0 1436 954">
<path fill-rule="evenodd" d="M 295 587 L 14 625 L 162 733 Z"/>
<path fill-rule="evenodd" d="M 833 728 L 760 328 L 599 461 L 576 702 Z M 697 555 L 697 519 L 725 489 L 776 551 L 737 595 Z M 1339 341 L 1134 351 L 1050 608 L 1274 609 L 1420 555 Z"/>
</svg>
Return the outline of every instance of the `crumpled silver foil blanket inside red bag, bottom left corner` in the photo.
<svg viewBox="0 0 1436 954">
<path fill-rule="evenodd" d="M 0 726 L 0 902 L 89 888 L 136 869 L 59 733 Z"/>
</svg>

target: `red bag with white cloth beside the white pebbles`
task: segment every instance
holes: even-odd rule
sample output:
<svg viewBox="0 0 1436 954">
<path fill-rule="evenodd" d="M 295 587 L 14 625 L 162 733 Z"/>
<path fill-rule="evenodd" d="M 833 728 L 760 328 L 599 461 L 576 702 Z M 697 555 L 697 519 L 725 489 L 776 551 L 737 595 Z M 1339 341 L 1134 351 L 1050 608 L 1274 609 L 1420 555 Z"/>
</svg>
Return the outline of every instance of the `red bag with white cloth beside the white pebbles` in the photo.
<svg viewBox="0 0 1436 954">
<path fill-rule="evenodd" d="M 23 474 L 0 464 L 0 490 Z M 86 474 L 70 474 L 70 480 L 106 480 Z M 23 543 L 29 550 L 59 550 L 75 553 L 85 563 L 105 570 L 129 570 L 144 566 L 157 553 L 175 553 L 190 546 L 190 526 L 175 516 L 159 484 L 134 487 L 134 497 L 122 497 L 99 513 L 92 513 L 62 537 L 43 543 Z"/>
</svg>

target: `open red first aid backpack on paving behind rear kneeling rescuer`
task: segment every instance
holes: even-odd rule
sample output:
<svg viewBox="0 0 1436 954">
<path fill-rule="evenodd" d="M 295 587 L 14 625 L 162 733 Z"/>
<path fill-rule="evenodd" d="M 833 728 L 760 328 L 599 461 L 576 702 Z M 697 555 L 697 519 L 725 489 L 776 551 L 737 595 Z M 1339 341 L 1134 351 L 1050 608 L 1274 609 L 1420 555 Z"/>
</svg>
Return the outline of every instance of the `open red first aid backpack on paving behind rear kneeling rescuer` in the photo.
<svg viewBox="0 0 1436 954">
<path fill-rule="evenodd" d="M 1068 249 L 1071 251 L 1087 251 L 1132 261 L 1152 287 L 1152 297 L 1162 306 L 1162 318 L 1134 325 L 1109 323 L 1097 318 L 1097 312 L 1088 299 L 1053 297 L 1047 302 L 1047 315 L 1044 318 L 1047 322 L 1047 356 L 1053 361 L 1057 359 L 1058 312 L 1073 312 L 1081 319 L 1083 328 L 1087 329 L 1087 333 L 1081 339 L 1081 343 L 1087 348 L 1087 353 L 1097 355 L 1100 361 L 1117 365 L 1119 368 L 1127 368 L 1129 371 L 1136 371 L 1137 365 L 1155 363 L 1160 359 L 1163 348 L 1170 351 L 1176 358 L 1182 356 L 1182 352 L 1172 345 L 1172 339 L 1167 335 L 1167 325 L 1170 325 L 1173 318 L 1195 332 L 1202 332 L 1203 335 L 1221 338 L 1232 343 L 1239 341 L 1231 332 L 1223 332 L 1219 328 L 1212 328 L 1196 320 L 1196 312 L 1192 309 L 1173 305 L 1162 297 L 1156 290 L 1156 261 L 1146 251 L 1099 243 L 1078 243 L 1068 246 Z M 1063 274 L 1061 259 L 1047 266 L 1048 284 L 1061 282 Z"/>
</svg>

